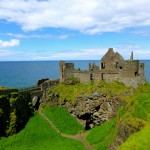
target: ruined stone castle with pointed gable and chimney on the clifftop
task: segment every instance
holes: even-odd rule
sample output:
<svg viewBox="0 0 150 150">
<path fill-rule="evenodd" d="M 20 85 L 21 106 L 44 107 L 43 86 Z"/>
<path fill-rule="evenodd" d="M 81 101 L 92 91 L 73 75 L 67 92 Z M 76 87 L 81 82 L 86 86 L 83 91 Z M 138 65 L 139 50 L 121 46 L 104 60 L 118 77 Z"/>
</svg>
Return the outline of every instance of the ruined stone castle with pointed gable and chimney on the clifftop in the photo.
<svg viewBox="0 0 150 150">
<path fill-rule="evenodd" d="M 133 59 L 133 52 L 129 60 L 124 60 L 113 48 L 102 57 L 100 66 L 94 63 L 89 64 L 86 71 L 77 70 L 73 63 L 60 61 L 60 82 L 64 82 L 70 77 L 77 77 L 81 83 L 93 81 L 97 83 L 101 80 L 111 82 L 117 80 L 123 82 L 126 86 L 137 87 L 140 83 L 145 83 L 144 63 Z"/>
</svg>

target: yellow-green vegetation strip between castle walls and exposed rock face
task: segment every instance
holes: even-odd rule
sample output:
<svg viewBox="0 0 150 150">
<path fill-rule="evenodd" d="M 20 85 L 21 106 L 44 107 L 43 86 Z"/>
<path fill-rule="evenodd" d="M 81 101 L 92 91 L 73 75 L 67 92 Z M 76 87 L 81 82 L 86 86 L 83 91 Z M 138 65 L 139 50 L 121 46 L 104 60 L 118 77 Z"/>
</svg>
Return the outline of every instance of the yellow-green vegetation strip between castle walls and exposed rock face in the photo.
<svg viewBox="0 0 150 150">
<path fill-rule="evenodd" d="M 110 98 L 112 94 L 123 97 L 130 93 L 131 88 L 126 87 L 123 83 L 118 81 L 114 81 L 112 83 L 101 81 L 97 85 L 93 84 L 92 82 L 88 84 L 78 83 L 75 85 L 66 85 L 60 83 L 53 90 L 49 90 L 47 94 L 47 100 L 52 100 L 54 98 L 52 95 L 59 95 L 59 102 L 67 101 L 70 104 L 75 104 L 75 99 L 77 97 L 85 97 L 95 91 L 99 93 L 105 93 L 108 98 Z"/>
</svg>

